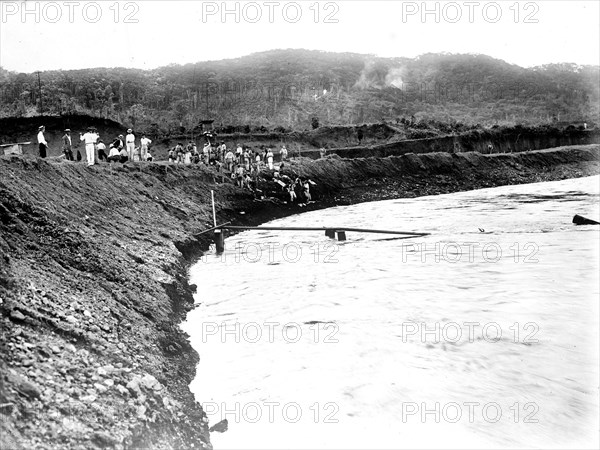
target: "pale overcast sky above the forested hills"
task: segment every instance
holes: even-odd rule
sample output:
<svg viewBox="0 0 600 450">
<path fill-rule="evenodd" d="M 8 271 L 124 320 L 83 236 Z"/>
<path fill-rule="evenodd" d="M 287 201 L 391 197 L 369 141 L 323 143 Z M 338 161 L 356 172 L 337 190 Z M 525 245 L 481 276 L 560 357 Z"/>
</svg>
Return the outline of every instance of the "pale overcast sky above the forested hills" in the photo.
<svg viewBox="0 0 600 450">
<path fill-rule="evenodd" d="M 598 65 L 599 3 L 0 0 L 0 65 L 19 72 L 155 68 L 277 48 Z"/>
</svg>

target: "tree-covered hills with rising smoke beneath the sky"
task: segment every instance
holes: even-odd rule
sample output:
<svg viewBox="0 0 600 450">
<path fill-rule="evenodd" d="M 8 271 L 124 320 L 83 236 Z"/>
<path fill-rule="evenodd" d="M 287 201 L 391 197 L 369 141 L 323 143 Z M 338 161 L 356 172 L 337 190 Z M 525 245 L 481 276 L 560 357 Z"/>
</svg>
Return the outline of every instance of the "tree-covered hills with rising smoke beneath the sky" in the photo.
<svg viewBox="0 0 600 450">
<path fill-rule="evenodd" d="M 47 71 L 39 80 L 0 68 L 0 117 L 85 113 L 153 135 L 198 129 L 204 119 L 223 132 L 381 121 L 594 123 L 599 83 L 597 66 L 525 69 L 485 55 L 275 50 L 146 71 Z"/>
</svg>

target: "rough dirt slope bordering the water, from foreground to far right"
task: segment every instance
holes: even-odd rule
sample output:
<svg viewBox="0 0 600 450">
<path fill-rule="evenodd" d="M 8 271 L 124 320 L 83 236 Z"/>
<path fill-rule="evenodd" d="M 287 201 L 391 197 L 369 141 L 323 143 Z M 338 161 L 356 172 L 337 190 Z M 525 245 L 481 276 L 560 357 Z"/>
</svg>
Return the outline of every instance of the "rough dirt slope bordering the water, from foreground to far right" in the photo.
<svg viewBox="0 0 600 450">
<path fill-rule="evenodd" d="M 599 153 L 331 156 L 288 171 L 317 183 L 315 209 L 598 174 Z M 221 221 L 306 210 L 260 187 L 273 198 L 200 166 L 0 158 L 0 448 L 210 447 L 188 389 L 198 355 L 178 328 L 208 245 L 193 234 L 212 223 L 211 189 Z"/>
</svg>

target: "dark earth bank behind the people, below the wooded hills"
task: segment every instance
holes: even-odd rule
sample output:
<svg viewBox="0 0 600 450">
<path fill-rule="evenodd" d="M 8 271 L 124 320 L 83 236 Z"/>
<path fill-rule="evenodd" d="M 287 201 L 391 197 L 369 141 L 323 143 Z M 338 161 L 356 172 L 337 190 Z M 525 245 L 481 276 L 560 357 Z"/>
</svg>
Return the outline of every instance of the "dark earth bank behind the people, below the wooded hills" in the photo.
<svg viewBox="0 0 600 450">
<path fill-rule="evenodd" d="M 94 126 L 108 145 L 119 134 L 126 134 L 128 128 L 109 119 L 86 115 L 0 118 L 0 145 L 31 142 L 23 146 L 23 152 L 37 156 L 37 129 L 40 125 L 46 126 L 45 137 L 49 144 L 49 156 L 62 154 L 62 136 L 65 128 L 72 130 L 71 138 L 75 154 L 79 150 L 84 157 L 84 145 L 79 141 L 80 131 L 85 131 L 88 126 Z M 137 142 L 141 138 L 142 131 L 134 127 Z M 153 140 L 151 153 L 157 160 L 167 160 L 170 148 L 178 143 L 185 145 L 192 139 L 201 147 L 204 144 L 201 133 L 199 127 L 193 132 L 169 136 L 159 136 L 148 131 L 148 137 Z M 445 133 L 449 134 L 451 131 L 445 130 Z M 265 129 L 252 133 L 221 133 L 217 139 L 219 142 L 225 142 L 228 148 L 235 148 L 238 144 L 259 152 L 267 147 L 274 148 L 276 160 L 282 145 L 286 145 L 290 156 L 302 155 L 318 159 L 321 156 L 319 151 L 321 148 L 326 148 L 329 154 L 337 154 L 342 158 L 385 158 L 407 153 L 472 151 L 490 153 L 489 146 L 492 147 L 492 153 L 512 153 L 600 143 L 600 130 L 583 130 L 573 126 L 563 129 L 551 126 L 478 128 L 463 133 L 452 132 L 451 135 L 441 135 L 441 131 L 437 134 L 440 136 L 428 139 L 406 139 L 406 129 L 384 123 L 321 127 L 310 131 L 269 132 Z"/>
</svg>

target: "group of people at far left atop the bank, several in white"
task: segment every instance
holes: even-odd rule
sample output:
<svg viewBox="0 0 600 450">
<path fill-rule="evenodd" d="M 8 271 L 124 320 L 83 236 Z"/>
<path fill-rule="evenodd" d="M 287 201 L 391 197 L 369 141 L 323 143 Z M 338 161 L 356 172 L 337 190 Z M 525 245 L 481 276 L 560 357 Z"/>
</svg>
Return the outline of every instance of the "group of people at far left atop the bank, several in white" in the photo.
<svg viewBox="0 0 600 450">
<path fill-rule="evenodd" d="M 45 138 L 46 128 L 42 125 L 38 128 L 38 146 L 39 154 L 41 158 L 46 158 L 48 151 L 48 142 Z M 69 128 L 64 130 L 62 137 L 62 151 L 65 159 L 69 161 L 81 161 L 82 155 L 77 150 L 77 155 L 73 153 L 73 147 L 76 145 L 73 143 L 71 137 L 71 130 Z M 108 155 L 106 153 L 106 144 L 100 139 L 98 130 L 94 127 L 88 127 L 85 133 L 79 133 L 79 142 L 83 142 L 85 146 L 85 160 L 88 166 L 93 166 L 98 161 L 107 162 L 121 162 L 127 161 L 152 161 L 152 155 L 150 154 L 150 145 L 152 140 L 148 139 L 145 134 L 142 134 L 140 139 L 140 146 L 135 145 L 135 135 L 132 129 L 127 130 L 127 137 L 122 134 L 115 138 L 115 140 L 109 145 Z"/>
</svg>

